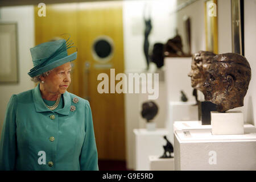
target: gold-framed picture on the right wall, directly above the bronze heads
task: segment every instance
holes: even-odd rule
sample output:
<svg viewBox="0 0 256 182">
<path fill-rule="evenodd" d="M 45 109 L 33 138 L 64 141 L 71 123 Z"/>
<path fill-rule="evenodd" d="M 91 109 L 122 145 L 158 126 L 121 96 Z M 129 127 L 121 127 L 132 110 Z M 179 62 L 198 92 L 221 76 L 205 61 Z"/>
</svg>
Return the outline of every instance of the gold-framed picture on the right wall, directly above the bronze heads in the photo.
<svg viewBox="0 0 256 182">
<path fill-rule="evenodd" d="M 204 4 L 206 51 L 218 53 L 218 16 L 217 0 L 208 0 Z"/>
</svg>

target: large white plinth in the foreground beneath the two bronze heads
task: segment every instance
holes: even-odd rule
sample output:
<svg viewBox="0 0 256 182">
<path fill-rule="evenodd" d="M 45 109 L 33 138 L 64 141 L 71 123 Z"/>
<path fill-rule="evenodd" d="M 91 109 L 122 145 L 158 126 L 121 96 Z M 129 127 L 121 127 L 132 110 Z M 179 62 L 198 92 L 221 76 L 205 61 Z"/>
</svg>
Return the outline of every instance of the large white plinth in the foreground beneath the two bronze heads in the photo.
<svg viewBox="0 0 256 182">
<path fill-rule="evenodd" d="M 256 129 L 212 135 L 211 129 L 176 130 L 175 170 L 256 170 Z"/>
</svg>

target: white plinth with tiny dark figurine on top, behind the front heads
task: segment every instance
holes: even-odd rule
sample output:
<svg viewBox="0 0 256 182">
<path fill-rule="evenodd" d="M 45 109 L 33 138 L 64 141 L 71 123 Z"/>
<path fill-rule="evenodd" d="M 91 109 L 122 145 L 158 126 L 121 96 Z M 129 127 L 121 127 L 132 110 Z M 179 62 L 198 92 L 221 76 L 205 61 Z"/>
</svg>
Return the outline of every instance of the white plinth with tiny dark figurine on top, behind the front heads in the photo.
<svg viewBox="0 0 256 182">
<path fill-rule="evenodd" d="M 170 142 L 174 143 L 174 122 L 198 120 L 196 102 L 169 102 L 169 113 L 166 127 L 170 130 Z"/>
</svg>

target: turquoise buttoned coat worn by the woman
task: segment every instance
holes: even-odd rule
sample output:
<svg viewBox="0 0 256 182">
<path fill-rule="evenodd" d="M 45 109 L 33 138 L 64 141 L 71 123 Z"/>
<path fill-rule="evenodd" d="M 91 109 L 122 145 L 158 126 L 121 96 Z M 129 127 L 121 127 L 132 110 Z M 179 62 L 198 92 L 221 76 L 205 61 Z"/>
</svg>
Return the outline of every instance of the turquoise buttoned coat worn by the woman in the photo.
<svg viewBox="0 0 256 182">
<path fill-rule="evenodd" d="M 98 170 L 89 102 L 66 91 L 59 105 L 53 111 L 44 105 L 39 84 L 11 96 L 0 170 Z"/>
</svg>

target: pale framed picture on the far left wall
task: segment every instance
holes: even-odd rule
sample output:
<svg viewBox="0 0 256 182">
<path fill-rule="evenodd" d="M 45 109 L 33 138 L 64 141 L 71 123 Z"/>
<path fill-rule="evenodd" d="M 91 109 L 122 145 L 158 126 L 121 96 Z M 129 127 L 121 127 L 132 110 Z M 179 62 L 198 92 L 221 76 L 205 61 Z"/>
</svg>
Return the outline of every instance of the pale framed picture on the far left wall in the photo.
<svg viewBox="0 0 256 182">
<path fill-rule="evenodd" d="M 17 23 L 0 23 L 0 84 L 18 83 Z"/>
</svg>

